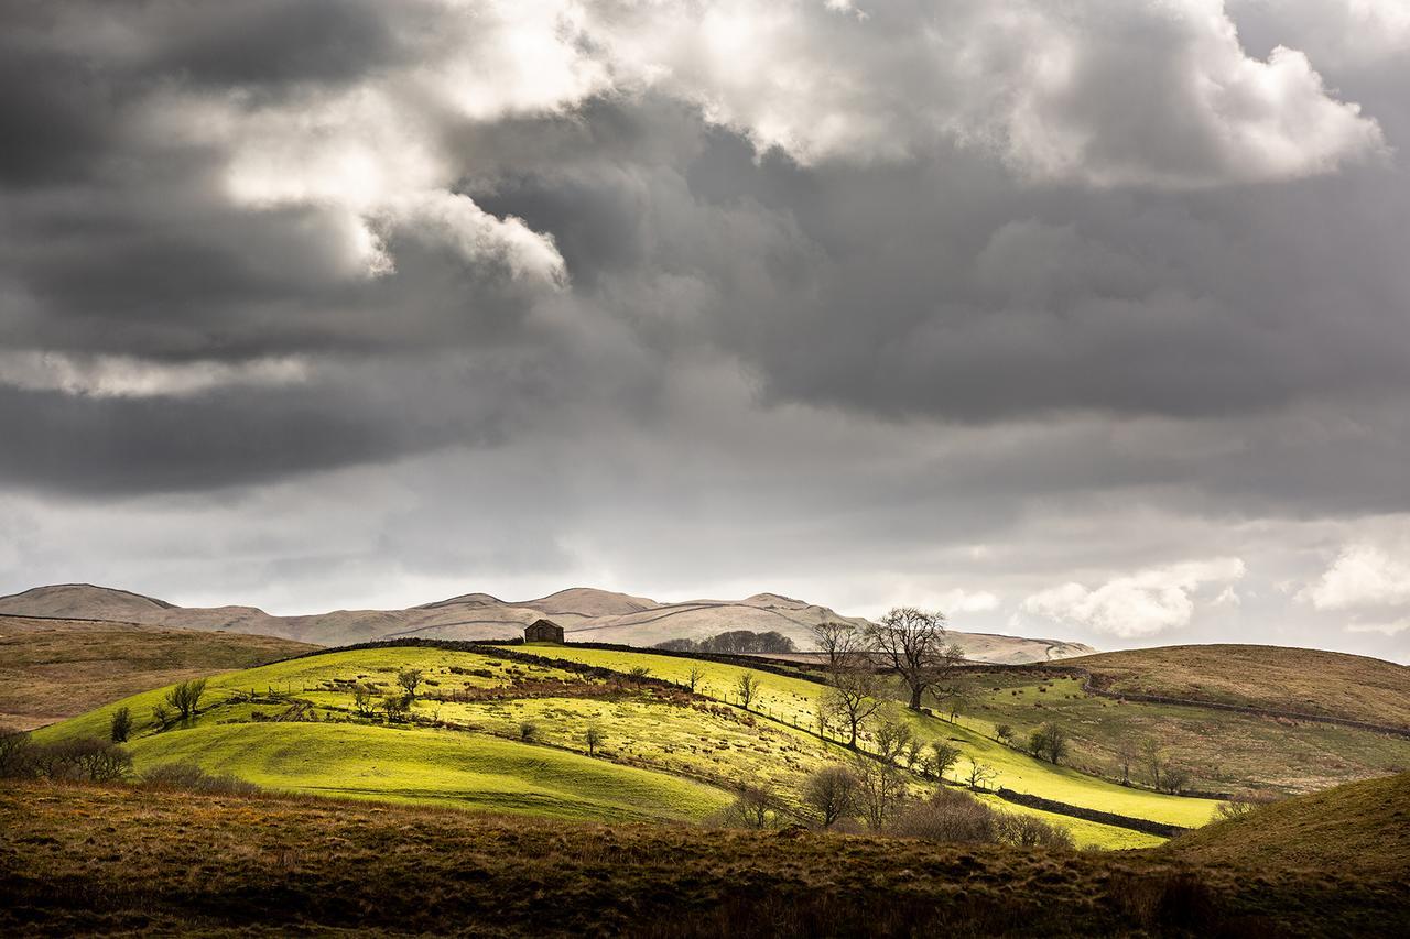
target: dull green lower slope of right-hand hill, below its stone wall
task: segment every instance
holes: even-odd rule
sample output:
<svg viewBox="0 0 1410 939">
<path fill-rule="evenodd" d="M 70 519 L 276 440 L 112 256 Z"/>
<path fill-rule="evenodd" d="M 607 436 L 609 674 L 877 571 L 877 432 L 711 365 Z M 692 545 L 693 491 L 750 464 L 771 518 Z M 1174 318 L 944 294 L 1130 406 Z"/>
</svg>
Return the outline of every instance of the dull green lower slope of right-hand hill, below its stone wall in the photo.
<svg viewBox="0 0 1410 939">
<path fill-rule="evenodd" d="M 1158 681 L 1148 684 L 1165 687 Z M 1325 685 L 1335 696 L 1347 681 L 1304 678 L 1303 687 Z M 1022 742 L 1050 720 L 1072 736 L 1076 766 L 1120 780 L 1127 747 L 1131 780 L 1144 785 L 1152 780 L 1141 751 L 1148 740 L 1159 742 L 1166 764 L 1190 771 L 1191 788 L 1213 792 L 1310 792 L 1410 768 L 1410 739 L 1316 720 L 1118 701 L 1086 694 L 1079 678 L 1025 670 L 969 671 L 960 688 L 962 725 L 994 736 L 1007 723 Z"/>
</svg>

